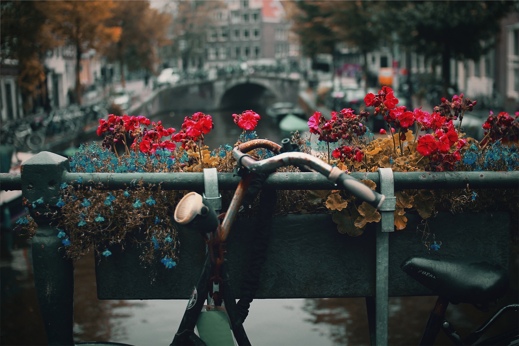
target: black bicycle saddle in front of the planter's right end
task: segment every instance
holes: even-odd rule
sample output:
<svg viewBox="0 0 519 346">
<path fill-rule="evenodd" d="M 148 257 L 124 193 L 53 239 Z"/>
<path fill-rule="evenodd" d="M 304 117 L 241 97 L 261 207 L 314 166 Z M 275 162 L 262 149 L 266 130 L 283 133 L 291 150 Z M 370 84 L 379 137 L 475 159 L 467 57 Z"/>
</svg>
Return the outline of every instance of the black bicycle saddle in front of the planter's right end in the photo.
<svg viewBox="0 0 519 346">
<path fill-rule="evenodd" d="M 507 292 L 510 284 L 507 270 L 483 257 L 409 257 L 400 268 L 453 304 L 496 301 Z"/>
</svg>

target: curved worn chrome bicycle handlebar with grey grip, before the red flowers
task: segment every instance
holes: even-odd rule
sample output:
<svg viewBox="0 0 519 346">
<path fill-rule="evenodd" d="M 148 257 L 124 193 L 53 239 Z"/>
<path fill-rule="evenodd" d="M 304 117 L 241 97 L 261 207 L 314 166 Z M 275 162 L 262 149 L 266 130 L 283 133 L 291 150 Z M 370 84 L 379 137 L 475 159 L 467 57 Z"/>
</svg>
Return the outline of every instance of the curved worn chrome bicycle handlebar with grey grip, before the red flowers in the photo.
<svg viewBox="0 0 519 346">
<path fill-rule="evenodd" d="M 256 161 L 250 155 L 245 154 L 257 148 L 269 149 L 278 155 Z M 384 195 L 373 191 L 357 179 L 350 177 L 338 167 L 332 167 L 317 157 L 305 153 L 299 153 L 297 151 L 279 154 L 280 149 L 281 146 L 268 140 L 251 140 L 235 147 L 233 149 L 233 157 L 238 164 L 242 165 L 244 168 L 247 168 L 251 172 L 258 173 L 273 171 L 277 168 L 288 165 L 305 165 L 318 173 L 323 174 L 332 183 L 344 188 L 353 196 L 371 204 L 376 209 L 380 208 L 386 198 Z"/>
</svg>

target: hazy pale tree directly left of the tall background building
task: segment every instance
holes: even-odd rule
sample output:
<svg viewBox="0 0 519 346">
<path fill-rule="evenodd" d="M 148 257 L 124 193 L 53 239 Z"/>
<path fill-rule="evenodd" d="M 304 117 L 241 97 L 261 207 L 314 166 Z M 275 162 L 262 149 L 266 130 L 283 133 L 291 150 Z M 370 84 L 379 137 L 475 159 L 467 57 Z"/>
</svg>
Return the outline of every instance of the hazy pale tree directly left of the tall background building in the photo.
<svg viewBox="0 0 519 346">
<path fill-rule="evenodd" d="M 185 70 L 190 58 L 200 58 L 212 24 L 215 10 L 223 8 L 221 1 L 184 0 L 177 2 L 177 15 L 173 21 L 175 36 L 173 54 L 182 59 Z"/>
</svg>

